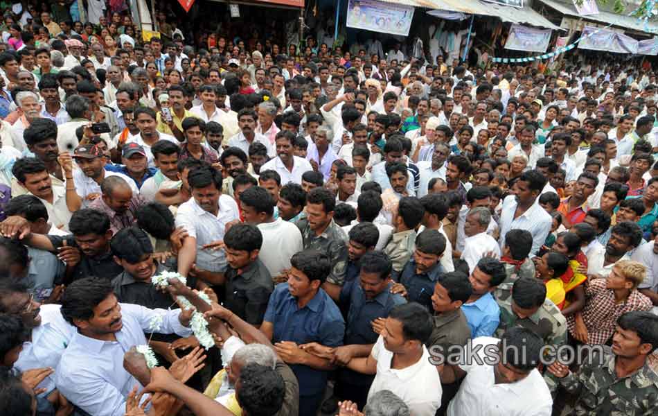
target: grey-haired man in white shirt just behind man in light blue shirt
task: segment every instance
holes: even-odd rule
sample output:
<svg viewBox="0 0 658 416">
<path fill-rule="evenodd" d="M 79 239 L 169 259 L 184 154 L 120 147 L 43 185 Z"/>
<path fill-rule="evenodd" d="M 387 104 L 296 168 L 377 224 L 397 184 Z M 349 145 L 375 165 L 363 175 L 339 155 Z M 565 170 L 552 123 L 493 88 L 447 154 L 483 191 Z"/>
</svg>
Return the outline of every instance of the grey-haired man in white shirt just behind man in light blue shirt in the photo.
<svg viewBox="0 0 658 416">
<path fill-rule="evenodd" d="M 461 259 L 468 263 L 468 270 L 473 272 L 477 262 L 486 254 L 493 252 L 496 258 L 500 257 L 500 248 L 496 240 L 487 234 L 487 227 L 491 221 L 491 211 L 488 207 L 475 207 L 466 215 L 464 223 L 464 250 Z"/>
</svg>

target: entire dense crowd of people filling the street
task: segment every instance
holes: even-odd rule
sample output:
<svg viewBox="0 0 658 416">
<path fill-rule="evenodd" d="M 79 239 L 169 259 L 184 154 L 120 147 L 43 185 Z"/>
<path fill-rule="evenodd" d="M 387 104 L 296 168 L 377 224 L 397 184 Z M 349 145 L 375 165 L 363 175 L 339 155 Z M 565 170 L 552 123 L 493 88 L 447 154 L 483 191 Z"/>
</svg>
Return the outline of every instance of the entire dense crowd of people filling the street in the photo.
<svg viewBox="0 0 658 416">
<path fill-rule="evenodd" d="M 45 6 L 0 27 L 1 414 L 658 413 L 650 67 Z"/>
</svg>

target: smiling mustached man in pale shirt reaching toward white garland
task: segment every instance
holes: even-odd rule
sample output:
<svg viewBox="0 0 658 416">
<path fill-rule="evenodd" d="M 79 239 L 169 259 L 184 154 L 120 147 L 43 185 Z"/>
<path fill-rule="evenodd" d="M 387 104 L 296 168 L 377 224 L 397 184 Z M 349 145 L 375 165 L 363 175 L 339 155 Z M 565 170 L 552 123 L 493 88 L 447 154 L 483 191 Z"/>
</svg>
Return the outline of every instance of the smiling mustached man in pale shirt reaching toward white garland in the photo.
<svg viewBox="0 0 658 416">
<path fill-rule="evenodd" d="M 55 370 L 55 385 L 72 404 L 94 416 L 123 416 L 130 390 L 137 383 L 149 383 L 145 361 L 137 366 L 124 361 L 128 350 L 147 343 L 145 331 L 192 334 L 187 327 L 193 309 L 167 311 L 119 304 L 112 284 L 94 277 L 66 288 L 61 311 L 78 331 Z"/>
</svg>

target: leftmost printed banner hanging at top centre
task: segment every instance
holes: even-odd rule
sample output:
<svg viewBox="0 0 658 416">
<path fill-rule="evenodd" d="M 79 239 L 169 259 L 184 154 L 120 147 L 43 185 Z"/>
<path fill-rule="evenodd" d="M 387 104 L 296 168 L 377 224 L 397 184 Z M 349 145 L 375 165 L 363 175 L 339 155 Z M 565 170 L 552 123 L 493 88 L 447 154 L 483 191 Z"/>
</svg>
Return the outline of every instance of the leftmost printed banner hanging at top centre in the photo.
<svg viewBox="0 0 658 416">
<path fill-rule="evenodd" d="M 407 36 L 412 19 L 414 6 L 377 0 L 349 0 L 348 3 L 348 28 Z"/>
</svg>

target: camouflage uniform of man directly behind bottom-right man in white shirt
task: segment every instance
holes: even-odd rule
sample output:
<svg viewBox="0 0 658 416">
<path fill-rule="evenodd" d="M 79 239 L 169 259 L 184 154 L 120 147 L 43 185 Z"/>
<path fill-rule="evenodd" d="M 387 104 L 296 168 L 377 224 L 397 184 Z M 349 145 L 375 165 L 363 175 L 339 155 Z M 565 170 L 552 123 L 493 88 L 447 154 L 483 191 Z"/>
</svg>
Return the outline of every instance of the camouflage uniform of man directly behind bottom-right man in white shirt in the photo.
<svg viewBox="0 0 658 416">
<path fill-rule="evenodd" d="M 537 309 L 537 312 L 524 319 L 519 319 L 512 311 L 511 291 L 504 292 L 497 302 L 500 307 L 500 323 L 494 333 L 495 337 L 501 338 L 503 333 L 510 328 L 523 327 L 542 337 L 546 345 L 553 345 L 555 349 L 567 343 L 567 320 L 551 300 L 544 300 L 544 304 Z M 545 369 L 543 374 L 551 395 L 555 397 L 558 389 L 557 379 Z"/>
</svg>

